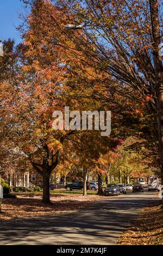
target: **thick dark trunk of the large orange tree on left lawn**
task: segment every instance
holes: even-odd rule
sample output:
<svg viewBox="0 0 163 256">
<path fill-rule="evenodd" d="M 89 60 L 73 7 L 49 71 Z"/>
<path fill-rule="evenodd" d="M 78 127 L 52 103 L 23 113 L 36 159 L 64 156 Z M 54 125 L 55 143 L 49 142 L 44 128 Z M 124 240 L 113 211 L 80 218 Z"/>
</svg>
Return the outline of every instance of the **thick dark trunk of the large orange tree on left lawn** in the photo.
<svg viewBox="0 0 163 256">
<path fill-rule="evenodd" d="M 42 196 L 42 203 L 44 204 L 51 204 L 50 200 L 50 175 L 48 169 L 44 169 L 42 172 L 42 178 L 43 178 L 43 196 Z"/>
</svg>

